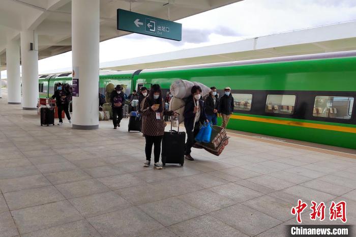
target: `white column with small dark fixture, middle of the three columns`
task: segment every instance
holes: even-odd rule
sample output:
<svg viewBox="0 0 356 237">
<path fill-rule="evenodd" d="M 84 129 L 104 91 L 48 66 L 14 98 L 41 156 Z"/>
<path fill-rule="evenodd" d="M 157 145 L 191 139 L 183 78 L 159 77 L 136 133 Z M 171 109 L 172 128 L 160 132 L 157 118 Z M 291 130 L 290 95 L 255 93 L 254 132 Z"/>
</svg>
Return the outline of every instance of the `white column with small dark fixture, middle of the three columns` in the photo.
<svg viewBox="0 0 356 237">
<path fill-rule="evenodd" d="M 38 44 L 34 31 L 22 31 L 21 65 L 22 65 L 22 109 L 37 110 L 38 102 Z M 33 43 L 33 50 L 30 44 Z"/>
</svg>

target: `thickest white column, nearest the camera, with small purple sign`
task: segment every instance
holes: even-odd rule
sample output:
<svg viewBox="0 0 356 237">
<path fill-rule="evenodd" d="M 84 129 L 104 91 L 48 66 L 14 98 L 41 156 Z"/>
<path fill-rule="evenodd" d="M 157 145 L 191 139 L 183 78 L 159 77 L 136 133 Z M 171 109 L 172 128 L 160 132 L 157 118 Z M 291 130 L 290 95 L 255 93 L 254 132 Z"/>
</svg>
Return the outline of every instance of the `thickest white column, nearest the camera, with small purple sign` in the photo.
<svg viewBox="0 0 356 237">
<path fill-rule="evenodd" d="M 99 18 L 100 0 L 72 0 L 72 65 L 79 78 L 73 129 L 99 128 Z"/>
</svg>

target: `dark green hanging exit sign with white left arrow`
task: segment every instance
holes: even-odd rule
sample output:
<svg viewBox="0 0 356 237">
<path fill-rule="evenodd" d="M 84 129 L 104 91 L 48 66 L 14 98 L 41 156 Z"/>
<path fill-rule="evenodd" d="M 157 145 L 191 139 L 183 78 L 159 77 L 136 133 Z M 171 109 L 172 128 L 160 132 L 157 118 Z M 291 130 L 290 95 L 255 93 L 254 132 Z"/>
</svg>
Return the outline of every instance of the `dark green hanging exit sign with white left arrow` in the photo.
<svg viewBox="0 0 356 237">
<path fill-rule="evenodd" d="M 117 29 L 169 40 L 182 40 L 182 24 L 117 9 Z"/>
</svg>

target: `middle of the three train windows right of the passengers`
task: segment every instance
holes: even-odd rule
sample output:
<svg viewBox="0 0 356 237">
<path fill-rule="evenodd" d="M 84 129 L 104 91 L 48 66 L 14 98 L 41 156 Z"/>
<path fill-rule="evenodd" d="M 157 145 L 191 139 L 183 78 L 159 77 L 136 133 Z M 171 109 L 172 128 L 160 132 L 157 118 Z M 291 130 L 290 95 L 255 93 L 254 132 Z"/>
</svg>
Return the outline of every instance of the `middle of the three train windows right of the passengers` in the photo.
<svg viewBox="0 0 356 237">
<path fill-rule="evenodd" d="M 265 112 L 293 114 L 295 95 L 267 95 Z"/>
</svg>

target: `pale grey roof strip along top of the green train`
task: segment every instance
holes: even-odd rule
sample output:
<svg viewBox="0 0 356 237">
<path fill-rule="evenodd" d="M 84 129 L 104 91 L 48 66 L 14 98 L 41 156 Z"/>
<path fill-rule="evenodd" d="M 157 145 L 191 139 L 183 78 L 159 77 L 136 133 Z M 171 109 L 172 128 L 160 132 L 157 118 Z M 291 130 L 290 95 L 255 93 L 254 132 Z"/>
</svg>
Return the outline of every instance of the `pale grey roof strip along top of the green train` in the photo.
<svg viewBox="0 0 356 237">
<path fill-rule="evenodd" d="M 145 69 L 142 70 L 142 73 L 201 69 L 201 68 L 230 67 L 230 66 L 267 64 L 267 63 L 279 63 L 279 62 L 293 62 L 293 61 L 318 60 L 318 59 L 325 59 L 325 58 L 340 58 L 340 57 L 355 57 L 355 56 L 356 56 L 356 50 L 352 50 L 352 51 L 342 51 L 342 52 L 261 58 L 256 60 L 244 60 L 244 61 L 234 61 L 234 62 L 226 62 L 226 63 L 199 64 L 199 65 L 189 65 L 189 66 L 179 66 L 179 67 L 169 67 L 169 68 L 159 68 L 159 69 Z"/>
</svg>

